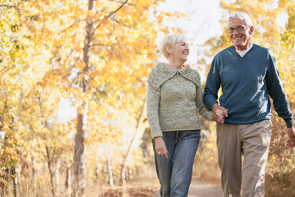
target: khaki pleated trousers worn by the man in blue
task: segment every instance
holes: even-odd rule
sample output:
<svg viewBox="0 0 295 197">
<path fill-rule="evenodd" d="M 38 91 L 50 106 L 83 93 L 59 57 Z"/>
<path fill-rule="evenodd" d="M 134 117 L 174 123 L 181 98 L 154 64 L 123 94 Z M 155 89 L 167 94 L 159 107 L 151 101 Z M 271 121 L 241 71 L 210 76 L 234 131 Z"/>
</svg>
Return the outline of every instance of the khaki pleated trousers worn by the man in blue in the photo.
<svg viewBox="0 0 295 197">
<path fill-rule="evenodd" d="M 264 196 L 264 174 L 272 126 L 271 120 L 242 125 L 216 123 L 224 197 Z"/>
</svg>

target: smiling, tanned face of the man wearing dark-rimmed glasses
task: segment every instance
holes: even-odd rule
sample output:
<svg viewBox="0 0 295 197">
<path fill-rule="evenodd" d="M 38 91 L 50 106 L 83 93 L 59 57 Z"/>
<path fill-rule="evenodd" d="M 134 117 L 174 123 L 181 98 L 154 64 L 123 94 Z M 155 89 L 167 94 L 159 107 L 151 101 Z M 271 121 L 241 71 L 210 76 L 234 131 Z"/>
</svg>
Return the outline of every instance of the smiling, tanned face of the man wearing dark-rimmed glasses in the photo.
<svg viewBox="0 0 295 197">
<path fill-rule="evenodd" d="M 235 45 L 235 49 L 239 51 L 246 50 L 250 47 L 250 35 L 253 34 L 253 27 L 247 27 L 245 25 L 244 19 L 234 18 L 228 24 L 229 29 L 235 29 L 237 27 L 244 27 L 242 31 L 234 30 L 234 32 L 229 33 L 230 40 Z"/>
</svg>

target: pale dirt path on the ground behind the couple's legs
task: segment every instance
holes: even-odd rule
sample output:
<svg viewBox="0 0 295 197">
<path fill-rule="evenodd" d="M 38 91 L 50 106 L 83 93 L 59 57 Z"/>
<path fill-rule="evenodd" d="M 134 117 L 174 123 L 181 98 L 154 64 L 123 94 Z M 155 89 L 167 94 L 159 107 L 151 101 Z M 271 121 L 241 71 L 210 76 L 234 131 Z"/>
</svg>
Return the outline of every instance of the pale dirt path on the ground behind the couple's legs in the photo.
<svg viewBox="0 0 295 197">
<path fill-rule="evenodd" d="M 160 197 L 159 191 L 153 197 Z M 193 178 L 188 197 L 223 197 L 223 192 L 219 185 Z"/>
</svg>

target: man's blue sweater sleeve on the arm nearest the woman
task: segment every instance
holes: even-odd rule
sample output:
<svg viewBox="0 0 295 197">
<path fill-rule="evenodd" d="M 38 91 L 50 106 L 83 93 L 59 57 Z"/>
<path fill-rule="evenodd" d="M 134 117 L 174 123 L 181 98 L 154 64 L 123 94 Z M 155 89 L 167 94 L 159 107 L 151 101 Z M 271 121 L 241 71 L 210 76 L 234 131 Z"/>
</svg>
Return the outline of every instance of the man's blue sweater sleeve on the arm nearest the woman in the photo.
<svg viewBox="0 0 295 197">
<path fill-rule="evenodd" d="M 218 104 L 218 90 L 220 89 L 221 79 L 218 69 L 218 60 L 216 56 L 211 62 L 209 73 L 206 80 L 204 89 L 203 101 L 208 110 L 212 110 L 215 103 Z"/>
</svg>

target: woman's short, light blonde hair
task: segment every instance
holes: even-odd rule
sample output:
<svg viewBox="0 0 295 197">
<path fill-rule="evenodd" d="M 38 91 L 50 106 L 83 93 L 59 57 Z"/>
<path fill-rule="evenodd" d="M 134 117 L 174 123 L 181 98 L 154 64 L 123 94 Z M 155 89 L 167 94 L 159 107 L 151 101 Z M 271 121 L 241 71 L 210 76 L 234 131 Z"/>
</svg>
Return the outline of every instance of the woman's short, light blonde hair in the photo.
<svg viewBox="0 0 295 197">
<path fill-rule="evenodd" d="M 187 45 L 189 44 L 186 36 L 181 33 L 167 34 L 160 42 L 160 52 L 163 54 L 163 56 L 165 56 L 165 58 L 168 58 L 170 54 L 167 51 L 167 46 L 173 50 L 175 44 L 180 42 L 185 42 Z"/>
</svg>

